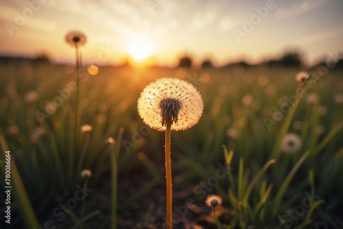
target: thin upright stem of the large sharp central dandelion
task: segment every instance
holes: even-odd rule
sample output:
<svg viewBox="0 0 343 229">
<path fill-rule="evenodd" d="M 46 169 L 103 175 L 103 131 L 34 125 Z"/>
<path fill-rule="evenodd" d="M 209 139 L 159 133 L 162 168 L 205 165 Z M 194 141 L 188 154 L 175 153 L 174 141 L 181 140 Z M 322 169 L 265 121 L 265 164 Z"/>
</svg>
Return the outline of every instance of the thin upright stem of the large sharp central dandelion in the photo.
<svg viewBox="0 0 343 229">
<path fill-rule="evenodd" d="M 165 129 L 165 176 L 167 178 L 167 229 L 172 228 L 172 190 L 171 190 L 171 159 L 170 159 L 170 130 L 171 121 L 167 121 Z"/>
</svg>

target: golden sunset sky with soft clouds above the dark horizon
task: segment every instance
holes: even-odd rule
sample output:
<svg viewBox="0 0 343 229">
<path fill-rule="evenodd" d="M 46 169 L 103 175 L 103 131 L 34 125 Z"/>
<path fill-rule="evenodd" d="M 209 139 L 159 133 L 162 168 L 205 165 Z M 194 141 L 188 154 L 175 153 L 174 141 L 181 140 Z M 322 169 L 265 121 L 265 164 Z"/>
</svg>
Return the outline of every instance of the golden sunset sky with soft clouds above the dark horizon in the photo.
<svg viewBox="0 0 343 229">
<path fill-rule="evenodd" d="M 77 29 L 88 39 L 86 64 L 129 57 L 175 66 L 187 54 L 220 66 L 293 49 L 313 64 L 343 53 L 342 12 L 342 0 L 0 0 L 0 55 L 71 62 L 64 36 Z"/>
</svg>

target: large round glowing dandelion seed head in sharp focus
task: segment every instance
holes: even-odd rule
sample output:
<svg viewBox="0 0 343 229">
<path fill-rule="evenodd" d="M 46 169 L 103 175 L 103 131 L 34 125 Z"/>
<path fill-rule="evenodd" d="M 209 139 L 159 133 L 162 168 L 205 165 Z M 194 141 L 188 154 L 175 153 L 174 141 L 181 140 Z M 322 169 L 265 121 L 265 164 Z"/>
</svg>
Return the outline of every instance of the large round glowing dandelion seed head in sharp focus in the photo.
<svg viewBox="0 0 343 229">
<path fill-rule="evenodd" d="M 197 89 L 177 78 L 158 79 L 145 86 L 138 99 L 138 112 L 143 122 L 158 131 L 187 130 L 198 123 L 204 104 Z"/>
</svg>

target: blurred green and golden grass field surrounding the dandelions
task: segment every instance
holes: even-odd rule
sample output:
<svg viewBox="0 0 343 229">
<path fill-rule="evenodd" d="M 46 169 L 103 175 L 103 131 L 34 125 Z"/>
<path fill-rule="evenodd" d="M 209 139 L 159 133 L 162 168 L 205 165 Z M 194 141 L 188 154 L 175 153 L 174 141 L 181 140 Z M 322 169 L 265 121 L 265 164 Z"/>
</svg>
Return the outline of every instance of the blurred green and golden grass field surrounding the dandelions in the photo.
<svg viewBox="0 0 343 229">
<path fill-rule="evenodd" d="M 8 149 L 12 156 L 10 228 L 34 225 L 27 212 L 43 228 L 82 223 L 84 228 L 109 228 L 111 150 L 118 156 L 118 228 L 161 228 L 165 135 L 148 128 L 137 112 L 145 85 L 161 77 L 190 82 L 204 101 L 197 125 L 171 132 L 174 228 L 216 228 L 205 204 L 209 194 L 222 197 L 217 208 L 222 228 L 343 227 L 342 71 L 325 67 L 320 77 L 315 77 L 318 69 L 309 71 L 316 81 L 305 82 L 306 95 L 292 106 L 298 69 L 99 67 L 91 75 L 84 68 L 74 141 L 75 67 L 0 68 L 1 159 L 5 162 Z M 84 124 L 93 128 L 89 134 L 81 131 Z M 292 154 L 281 150 L 287 132 L 301 139 Z M 109 137 L 116 139 L 113 147 L 106 142 Z M 6 198 L 4 165 L 1 202 Z M 85 214 L 77 202 L 60 209 L 65 217 L 56 217 L 54 208 L 84 185 L 80 169 L 92 172 Z M 20 181 L 23 189 L 18 189 Z M 1 220 L 4 211 L 1 206 Z"/>
</svg>

